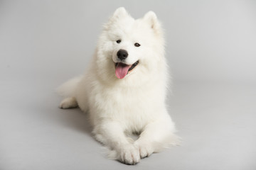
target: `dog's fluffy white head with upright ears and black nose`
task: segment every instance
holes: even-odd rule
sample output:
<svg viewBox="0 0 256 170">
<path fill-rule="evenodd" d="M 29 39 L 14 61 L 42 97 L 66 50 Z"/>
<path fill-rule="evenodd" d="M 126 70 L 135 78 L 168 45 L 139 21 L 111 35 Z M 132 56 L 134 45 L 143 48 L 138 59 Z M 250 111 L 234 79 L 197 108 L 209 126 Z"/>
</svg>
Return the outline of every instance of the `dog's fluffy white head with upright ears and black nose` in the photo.
<svg viewBox="0 0 256 170">
<path fill-rule="evenodd" d="M 156 55 L 164 55 L 161 26 L 151 11 L 134 20 L 124 8 L 117 8 L 105 24 L 99 43 L 102 48 L 98 50 L 105 50 L 107 55 L 102 57 L 118 79 L 149 72 L 146 69 L 153 69 L 157 60 L 163 57 Z"/>
</svg>

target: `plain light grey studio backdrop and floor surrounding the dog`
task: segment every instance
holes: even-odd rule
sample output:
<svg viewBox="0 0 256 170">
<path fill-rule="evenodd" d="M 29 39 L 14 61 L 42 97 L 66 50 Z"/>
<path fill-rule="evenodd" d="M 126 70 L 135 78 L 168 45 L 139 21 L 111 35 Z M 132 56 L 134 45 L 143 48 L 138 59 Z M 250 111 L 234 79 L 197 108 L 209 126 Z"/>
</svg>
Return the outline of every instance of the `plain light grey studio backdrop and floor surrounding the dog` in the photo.
<svg viewBox="0 0 256 170">
<path fill-rule="evenodd" d="M 82 74 L 102 23 L 155 11 L 173 75 L 180 147 L 106 159 L 87 115 L 54 89 Z M 0 169 L 256 169 L 255 1 L 0 1 Z"/>
</svg>

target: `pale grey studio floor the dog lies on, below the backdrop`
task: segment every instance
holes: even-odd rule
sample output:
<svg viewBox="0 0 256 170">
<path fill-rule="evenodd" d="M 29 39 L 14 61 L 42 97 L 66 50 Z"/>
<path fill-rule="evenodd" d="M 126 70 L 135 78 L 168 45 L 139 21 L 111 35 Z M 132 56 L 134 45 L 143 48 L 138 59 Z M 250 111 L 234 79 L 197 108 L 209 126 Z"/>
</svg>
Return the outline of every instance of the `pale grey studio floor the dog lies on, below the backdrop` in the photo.
<svg viewBox="0 0 256 170">
<path fill-rule="evenodd" d="M 84 113 L 58 108 L 59 81 L 45 82 L 1 81 L 1 170 L 256 169 L 255 86 L 175 83 L 168 103 L 183 144 L 127 166 L 105 157 Z"/>
</svg>

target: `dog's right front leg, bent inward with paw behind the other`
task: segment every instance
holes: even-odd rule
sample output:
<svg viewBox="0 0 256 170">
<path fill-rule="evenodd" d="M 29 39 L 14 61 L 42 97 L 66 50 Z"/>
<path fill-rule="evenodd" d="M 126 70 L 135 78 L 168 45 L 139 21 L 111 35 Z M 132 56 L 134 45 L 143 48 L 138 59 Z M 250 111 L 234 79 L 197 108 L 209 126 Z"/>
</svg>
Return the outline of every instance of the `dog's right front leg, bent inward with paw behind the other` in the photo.
<svg viewBox="0 0 256 170">
<path fill-rule="evenodd" d="M 165 147 L 176 145 L 174 124 L 171 121 L 156 120 L 146 125 L 134 145 L 139 148 L 141 158 L 149 157 L 153 152 L 160 152 Z"/>
</svg>

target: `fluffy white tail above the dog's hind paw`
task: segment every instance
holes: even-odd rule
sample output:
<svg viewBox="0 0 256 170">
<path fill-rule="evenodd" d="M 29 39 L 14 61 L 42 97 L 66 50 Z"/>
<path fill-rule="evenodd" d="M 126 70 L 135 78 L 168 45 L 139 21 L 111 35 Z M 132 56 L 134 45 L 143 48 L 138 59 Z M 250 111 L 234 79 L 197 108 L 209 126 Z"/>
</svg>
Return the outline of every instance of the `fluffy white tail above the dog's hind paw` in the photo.
<svg viewBox="0 0 256 170">
<path fill-rule="evenodd" d="M 68 80 L 56 89 L 57 93 L 63 97 L 74 97 L 75 91 L 77 89 L 76 87 L 78 86 L 78 83 L 81 81 L 81 79 L 82 76 Z"/>
</svg>

